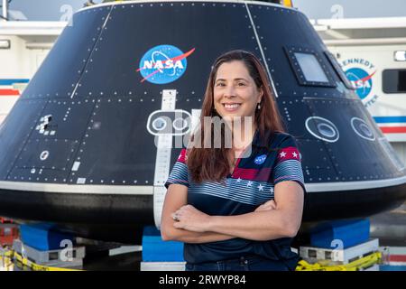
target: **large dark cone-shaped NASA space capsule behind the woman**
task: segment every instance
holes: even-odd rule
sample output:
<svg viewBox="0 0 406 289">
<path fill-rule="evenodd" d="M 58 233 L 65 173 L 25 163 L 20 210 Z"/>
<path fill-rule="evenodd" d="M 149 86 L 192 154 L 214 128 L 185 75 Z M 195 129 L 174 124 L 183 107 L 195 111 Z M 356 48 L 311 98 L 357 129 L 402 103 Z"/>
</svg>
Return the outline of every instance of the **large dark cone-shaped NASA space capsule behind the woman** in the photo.
<svg viewBox="0 0 406 289">
<path fill-rule="evenodd" d="M 305 222 L 401 205 L 403 163 L 305 14 L 269 2 L 125 1 L 74 14 L 0 126 L 0 215 L 116 241 L 159 225 L 173 144 L 198 119 L 211 64 L 235 49 L 262 61 L 297 139 Z"/>
</svg>

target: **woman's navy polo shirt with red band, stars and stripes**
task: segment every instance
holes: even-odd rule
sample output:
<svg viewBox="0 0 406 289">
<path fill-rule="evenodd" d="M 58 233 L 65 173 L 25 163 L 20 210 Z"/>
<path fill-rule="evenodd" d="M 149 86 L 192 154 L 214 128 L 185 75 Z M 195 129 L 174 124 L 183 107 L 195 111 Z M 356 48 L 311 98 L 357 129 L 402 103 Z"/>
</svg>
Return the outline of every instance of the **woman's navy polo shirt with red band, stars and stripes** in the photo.
<svg viewBox="0 0 406 289">
<path fill-rule="evenodd" d="M 210 216 L 234 216 L 254 211 L 268 200 L 273 200 L 273 188 L 278 182 L 295 181 L 305 191 L 300 153 L 291 135 L 268 133 L 260 138 L 257 130 L 251 154 L 239 158 L 225 183 L 191 180 L 187 166 L 187 151 L 182 149 L 165 186 L 178 183 L 188 187 L 188 204 Z M 298 255 L 291 252 L 291 238 L 254 241 L 233 238 L 203 244 L 185 244 L 184 258 L 192 264 L 257 255 L 281 260 L 291 266 Z"/>
</svg>

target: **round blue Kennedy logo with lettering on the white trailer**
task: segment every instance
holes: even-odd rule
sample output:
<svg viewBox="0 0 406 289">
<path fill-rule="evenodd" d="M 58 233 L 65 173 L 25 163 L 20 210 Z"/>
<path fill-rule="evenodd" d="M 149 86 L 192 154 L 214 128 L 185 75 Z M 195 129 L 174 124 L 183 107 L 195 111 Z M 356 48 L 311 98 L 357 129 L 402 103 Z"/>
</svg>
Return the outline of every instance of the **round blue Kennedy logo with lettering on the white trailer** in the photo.
<svg viewBox="0 0 406 289">
<path fill-rule="evenodd" d="M 348 59 L 343 61 L 343 70 L 346 72 L 346 77 L 356 88 L 356 94 L 364 103 L 365 107 L 374 104 L 378 96 L 374 94 L 373 77 L 376 73 L 376 68 L 371 61 L 364 59 Z"/>
</svg>

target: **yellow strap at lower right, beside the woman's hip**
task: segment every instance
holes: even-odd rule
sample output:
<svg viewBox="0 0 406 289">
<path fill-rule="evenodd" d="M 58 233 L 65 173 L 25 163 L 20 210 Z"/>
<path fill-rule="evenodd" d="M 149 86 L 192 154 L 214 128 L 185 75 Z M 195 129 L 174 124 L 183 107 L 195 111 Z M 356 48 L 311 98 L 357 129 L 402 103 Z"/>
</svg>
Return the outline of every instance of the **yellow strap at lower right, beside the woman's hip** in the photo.
<svg viewBox="0 0 406 289">
<path fill-rule="evenodd" d="M 359 271 L 378 264 L 381 258 L 381 252 L 374 252 L 345 265 L 323 265 L 323 261 L 309 264 L 305 260 L 301 260 L 296 267 L 296 271 Z"/>
</svg>

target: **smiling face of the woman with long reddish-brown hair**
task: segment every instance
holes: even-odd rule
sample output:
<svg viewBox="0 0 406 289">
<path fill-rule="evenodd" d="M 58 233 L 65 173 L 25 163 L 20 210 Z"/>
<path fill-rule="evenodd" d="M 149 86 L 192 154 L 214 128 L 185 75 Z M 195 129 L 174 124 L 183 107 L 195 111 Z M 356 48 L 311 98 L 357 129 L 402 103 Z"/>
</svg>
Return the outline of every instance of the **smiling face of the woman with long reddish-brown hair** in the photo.
<svg viewBox="0 0 406 289">
<path fill-rule="evenodd" d="M 231 61 L 220 65 L 214 85 L 214 106 L 218 115 L 253 117 L 263 97 L 243 61 Z"/>
</svg>

